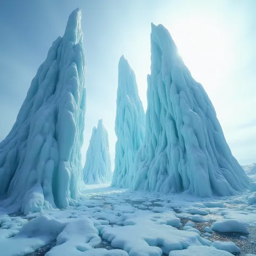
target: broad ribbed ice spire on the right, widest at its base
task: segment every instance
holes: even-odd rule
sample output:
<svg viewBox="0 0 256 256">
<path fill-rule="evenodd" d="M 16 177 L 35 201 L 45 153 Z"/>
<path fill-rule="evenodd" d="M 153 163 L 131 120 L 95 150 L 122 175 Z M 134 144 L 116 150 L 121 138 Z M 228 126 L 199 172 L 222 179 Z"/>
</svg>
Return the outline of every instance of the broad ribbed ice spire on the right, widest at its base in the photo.
<svg viewBox="0 0 256 256">
<path fill-rule="evenodd" d="M 203 86 L 178 55 L 169 31 L 152 24 L 146 133 L 133 189 L 228 196 L 249 180 L 232 156 Z"/>
</svg>

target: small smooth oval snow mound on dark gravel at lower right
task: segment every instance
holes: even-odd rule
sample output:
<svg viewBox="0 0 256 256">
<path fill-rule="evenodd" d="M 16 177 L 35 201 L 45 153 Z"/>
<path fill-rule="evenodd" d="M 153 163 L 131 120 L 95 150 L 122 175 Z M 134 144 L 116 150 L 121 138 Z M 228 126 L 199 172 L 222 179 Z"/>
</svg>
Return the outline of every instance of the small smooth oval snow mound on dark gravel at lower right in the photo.
<svg viewBox="0 0 256 256">
<path fill-rule="evenodd" d="M 234 219 L 217 220 L 212 224 L 211 228 L 219 232 L 249 233 L 246 225 L 242 221 Z"/>
</svg>

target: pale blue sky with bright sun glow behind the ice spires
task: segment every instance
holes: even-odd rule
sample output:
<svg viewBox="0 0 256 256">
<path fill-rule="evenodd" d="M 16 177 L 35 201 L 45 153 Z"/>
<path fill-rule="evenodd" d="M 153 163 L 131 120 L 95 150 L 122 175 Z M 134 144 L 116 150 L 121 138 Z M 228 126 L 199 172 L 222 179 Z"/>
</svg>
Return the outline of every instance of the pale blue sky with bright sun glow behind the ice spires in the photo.
<svg viewBox="0 0 256 256">
<path fill-rule="evenodd" d="M 151 22 L 163 24 L 192 76 L 203 84 L 240 164 L 256 161 L 256 1 L 110 0 L 0 2 L 0 140 L 10 131 L 52 42 L 82 9 L 87 62 L 83 163 L 98 119 L 114 164 L 117 65 L 124 55 L 146 108 Z"/>
</svg>

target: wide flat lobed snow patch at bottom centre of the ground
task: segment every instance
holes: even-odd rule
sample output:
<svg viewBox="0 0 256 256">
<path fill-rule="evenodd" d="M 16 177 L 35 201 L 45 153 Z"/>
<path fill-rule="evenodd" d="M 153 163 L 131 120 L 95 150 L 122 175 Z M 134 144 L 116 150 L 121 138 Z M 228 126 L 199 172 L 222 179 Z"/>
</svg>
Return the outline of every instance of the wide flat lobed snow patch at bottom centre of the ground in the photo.
<svg viewBox="0 0 256 256">
<path fill-rule="evenodd" d="M 190 245 L 211 243 L 195 232 L 173 227 L 180 226 L 180 220 L 172 211 L 158 214 L 137 211 L 124 214 L 123 220 L 124 226 L 103 227 L 100 233 L 113 247 L 122 248 L 130 256 L 160 256 Z"/>
</svg>

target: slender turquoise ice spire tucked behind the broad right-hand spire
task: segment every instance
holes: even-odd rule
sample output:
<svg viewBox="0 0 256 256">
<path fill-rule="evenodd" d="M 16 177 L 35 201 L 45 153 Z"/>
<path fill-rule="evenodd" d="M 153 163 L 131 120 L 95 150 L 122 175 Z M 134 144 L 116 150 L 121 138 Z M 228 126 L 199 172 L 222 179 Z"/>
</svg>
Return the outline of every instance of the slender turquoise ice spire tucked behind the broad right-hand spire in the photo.
<svg viewBox="0 0 256 256">
<path fill-rule="evenodd" d="M 114 127 L 117 136 L 112 186 L 131 187 L 134 159 L 145 133 L 145 112 L 139 98 L 136 77 L 122 56 L 118 64 L 117 115 Z"/>
</svg>

